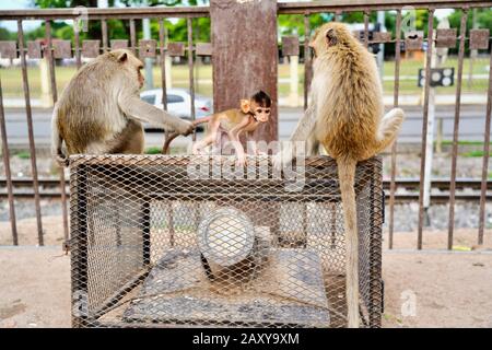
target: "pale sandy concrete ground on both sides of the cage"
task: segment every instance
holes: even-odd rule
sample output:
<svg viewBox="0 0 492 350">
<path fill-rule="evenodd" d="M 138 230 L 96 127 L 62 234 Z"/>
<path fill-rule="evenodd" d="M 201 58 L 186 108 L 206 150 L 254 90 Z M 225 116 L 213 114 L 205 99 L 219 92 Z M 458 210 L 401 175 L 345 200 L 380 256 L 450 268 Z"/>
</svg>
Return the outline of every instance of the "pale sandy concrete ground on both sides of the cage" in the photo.
<svg viewBox="0 0 492 350">
<path fill-rule="evenodd" d="M 384 327 L 492 327 L 492 252 L 385 250 Z M 0 328 L 70 327 L 69 256 L 0 247 Z"/>
</svg>

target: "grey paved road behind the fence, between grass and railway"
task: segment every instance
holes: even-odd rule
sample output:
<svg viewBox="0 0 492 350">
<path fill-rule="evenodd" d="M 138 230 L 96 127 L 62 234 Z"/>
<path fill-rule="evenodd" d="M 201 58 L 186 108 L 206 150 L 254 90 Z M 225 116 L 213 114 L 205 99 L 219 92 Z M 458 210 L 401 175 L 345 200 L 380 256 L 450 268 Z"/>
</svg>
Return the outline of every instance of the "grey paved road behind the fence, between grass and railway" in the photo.
<svg viewBox="0 0 492 350">
<path fill-rule="evenodd" d="M 403 109 L 407 113 L 407 119 L 403 124 L 403 128 L 399 137 L 399 142 L 420 142 L 422 132 L 422 108 L 405 107 Z M 281 140 L 285 140 L 289 138 L 292 130 L 295 128 L 301 115 L 301 108 L 281 108 L 279 116 L 279 133 Z M 27 145 L 28 138 L 25 112 L 23 109 L 7 109 L 5 117 L 9 144 L 13 148 L 22 148 Z M 34 137 L 37 147 L 46 147 L 50 142 L 50 118 L 51 110 L 49 109 L 33 110 Z M 443 119 L 444 139 L 452 140 L 454 106 L 438 106 L 436 110 L 436 118 Z M 482 141 L 484 119 L 484 105 L 464 105 L 461 107 L 459 139 Z M 161 145 L 162 140 L 162 132 L 147 132 L 148 145 Z M 177 139 L 173 144 L 179 144 L 183 142 L 187 141 L 185 139 Z"/>
</svg>

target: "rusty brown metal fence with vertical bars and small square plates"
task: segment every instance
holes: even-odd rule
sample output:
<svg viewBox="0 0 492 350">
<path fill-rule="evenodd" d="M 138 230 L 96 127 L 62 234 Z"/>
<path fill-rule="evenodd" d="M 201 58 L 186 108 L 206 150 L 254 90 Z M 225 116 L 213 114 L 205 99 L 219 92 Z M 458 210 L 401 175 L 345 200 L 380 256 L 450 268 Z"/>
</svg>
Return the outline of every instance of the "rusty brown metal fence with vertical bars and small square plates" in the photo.
<svg viewBox="0 0 492 350">
<path fill-rule="evenodd" d="M 423 9 L 430 15 L 426 23 L 426 36 L 424 37 L 421 33 L 403 33 L 402 34 L 402 11 L 406 7 L 414 7 L 415 9 Z M 408 0 L 403 3 L 396 3 L 394 1 L 386 0 L 371 0 L 365 1 L 363 4 L 360 2 L 353 3 L 353 1 L 316 1 L 316 2 L 298 2 L 298 3 L 278 3 L 278 14 L 298 14 L 304 16 L 304 30 L 305 33 L 312 33 L 313 28 L 309 26 L 309 18 L 316 13 L 331 13 L 335 15 L 341 13 L 351 13 L 359 12 L 363 13 L 364 20 L 364 31 L 362 34 L 363 43 L 368 46 L 375 43 L 384 43 L 395 45 L 395 82 L 394 82 L 394 106 L 399 105 L 399 96 L 400 96 L 400 62 L 401 62 L 401 44 L 405 43 L 407 49 L 415 46 L 422 46 L 423 43 L 427 44 L 426 50 L 426 60 L 431 61 L 433 50 L 435 49 L 432 44 L 435 42 L 436 47 L 456 47 L 458 43 L 458 63 L 457 63 L 457 73 L 456 73 L 456 94 L 455 94 L 455 110 L 454 110 L 454 138 L 452 143 L 452 172 L 450 178 L 448 182 L 448 191 L 449 191 L 449 219 L 448 219 L 448 242 L 447 248 L 453 247 L 454 242 L 454 217 L 455 217 L 455 201 L 458 198 L 456 195 L 457 186 L 461 186 L 459 182 L 457 182 L 457 155 L 458 155 L 458 133 L 460 128 L 460 105 L 461 105 L 461 86 L 462 86 L 462 75 L 464 75 L 464 58 L 466 55 L 466 45 L 470 48 L 480 49 L 482 52 L 489 51 L 489 42 L 490 35 L 489 33 L 481 30 L 472 30 L 467 31 L 466 20 L 468 13 L 476 8 L 490 8 L 492 7 L 491 1 L 455 1 L 455 0 L 434 0 L 434 1 L 423 1 L 423 0 Z M 442 30 L 434 28 L 434 16 L 432 15 L 436 9 L 441 8 L 452 8 L 452 9 L 460 9 L 461 10 L 461 20 L 460 26 L 456 32 L 449 33 Z M 373 11 L 396 11 L 396 33 L 379 33 L 375 36 L 370 36 L 370 15 Z M 140 8 L 140 9 L 89 9 L 87 10 L 87 20 L 90 22 L 96 21 L 101 22 L 102 28 L 102 43 L 95 40 L 84 40 L 81 43 L 78 32 L 74 33 L 73 38 L 73 48 L 70 43 L 63 40 L 54 40 L 51 37 L 51 24 L 52 21 L 56 20 L 72 20 L 74 23 L 78 21 L 79 13 L 74 13 L 72 9 L 58 9 L 58 10 L 26 10 L 26 11 L 0 11 L 0 20 L 2 21 L 16 21 L 17 23 L 17 42 L 15 43 L 1 43 L 0 49 L 2 57 L 10 58 L 21 58 L 22 66 L 22 81 L 23 81 L 23 91 L 24 91 L 24 100 L 25 100 L 25 110 L 27 117 L 27 128 L 30 136 L 30 152 L 31 152 L 31 167 L 32 167 L 32 187 L 34 191 L 34 201 L 36 208 L 36 220 L 37 220 L 37 234 L 38 234 L 38 243 L 40 245 L 43 242 L 43 223 L 42 223 L 42 205 L 40 198 L 42 192 L 39 190 L 40 180 L 37 172 L 37 163 L 36 163 L 36 144 L 34 140 L 33 132 L 33 117 L 32 117 L 32 106 L 31 106 L 31 95 L 30 95 L 30 79 L 28 79 L 28 70 L 26 62 L 26 55 L 31 58 L 33 57 L 42 57 L 44 54 L 45 57 L 49 61 L 49 77 L 50 77 L 50 85 L 51 85 L 51 98 L 54 102 L 58 98 L 57 92 L 57 78 L 56 78 L 56 67 L 55 59 L 63 58 L 63 57 L 75 57 L 77 67 L 81 67 L 82 65 L 82 56 L 84 57 L 95 57 L 101 52 L 109 50 L 112 47 L 121 47 L 128 46 L 130 49 L 139 52 L 141 57 L 156 57 L 161 56 L 161 80 L 162 80 L 162 89 L 165 91 L 165 78 L 166 72 L 164 65 L 164 57 L 168 56 L 184 56 L 186 51 L 188 51 L 188 67 L 189 67 L 189 88 L 191 91 L 191 113 L 192 117 L 195 117 L 195 102 L 194 102 L 194 92 L 195 92 L 195 79 L 194 79 L 194 65 L 195 57 L 198 55 L 210 56 L 213 52 L 211 51 L 210 45 L 202 45 L 194 43 L 194 26 L 192 21 L 197 18 L 208 18 L 210 15 L 208 7 L 195 7 L 195 8 Z M 165 40 L 165 26 L 164 20 L 169 18 L 185 18 L 187 19 L 187 43 L 166 43 Z M 107 22 L 110 19 L 119 19 L 128 21 L 130 35 L 129 35 L 129 44 L 128 40 L 112 40 L 108 37 L 108 26 Z M 152 19 L 153 21 L 159 21 L 160 24 L 160 37 L 159 40 L 140 40 L 137 39 L 136 33 L 136 21 L 140 21 L 142 19 Z M 26 21 L 31 20 L 42 20 L 46 24 L 46 35 L 44 37 L 44 43 L 38 42 L 28 42 L 26 43 L 24 39 L 24 31 L 23 24 Z M 213 23 L 212 23 L 213 25 Z M 434 37 L 434 33 L 436 34 L 435 40 L 430 39 Z M 238 45 L 241 45 L 238 43 Z M 301 45 L 304 47 L 304 52 L 308 52 L 308 40 L 301 42 Z M 195 52 L 195 55 L 194 55 Z M 307 101 L 307 91 L 309 89 L 309 80 L 312 75 L 312 60 L 311 55 L 305 56 L 305 79 L 304 79 L 304 105 L 306 106 Z M 490 65 L 489 65 L 490 68 Z M 489 69 L 490 74 L 492 74 L 492 70 Z M 425 75 L 430 77 L 431 67 L 430 65 L 425 68 Z M 488 182 L 488 167 L 489 167 L 489 153 L 490 153 L 490 122 L 491 122 L 491 77 L 489 77 L 489 85 L 487 92 L 487 112 L 483 116 L 485 120 L 484 127 L 484 137 L 483 137 L 483 158 L 482 158 L 482 174 L 481 178 L 478 179 L 478 184 L 473 184 L 476 188 L 480 188 L 480 207 L 479 207 L 479 229 L 478 229 L 478 243 L 483 243 L 483 234 L 485 229 L 485 201 L 488 200 L 488 186 L 490 183 Z M 0 82 L 1 84 L 1 82 Z M 231 86 L 233 88 L 233 86 Z M 427 152 L 427 121 L 429 121 L 429 108 L 430 108 L 430 95 L 431 95 L 431 82 L 430 80 L 425 80 L 425 84 L 423 88 L 423 124 L 422 124 L 422 135 L 421 135 L 421 171 L 420 171 L 420 179 L 418 183 L 419 188 L 419 225 L 418 225 L 418 244 L 417 248 L 422 248 L 422 236 L 423 236 L 423 228 L 424 228 L 424 186 L 422 184 L 425 183 L 426 175 L 425 173 L 425 162 L 426 162 L 426 152 Z M 0 94 L 2 94 L 2 90 L 0 89 Z M 2 101 L 2 96 L 0 95 L 0 102 Z M 165 101 L 166 94 L 163 93 L 163 104 L 166 105 Z M 220 98 L 221 96 L 214 96 L 214 100 Z M 3 154 L 3 163 L 4 163 L 4 184 L 7 186 L 7 192 L 10 205 L 10 222 L 12 230 L 12 242 L 13 244 L 19 244 L 17 240 L 17 230 L 16 230 L 16 220 L 15 220 L 15 209 L 14 209 L 14 185 L 16 179 L 12 177 L 10 171 L 10 156 L 9 156 L 9 144 L 7 142 L 7 131 L 5 131 L 5 118 L 3 112 L 3 103 L 0 105 L 0 128 L 2 136 L 2 154 Z M 395 202 L 396 202 L 396 188 L 398 185 L 396 178 L 396 170 L 397 170 L 397 148 L 398 145 L 395 143 L 391 149 L 391 176 L 390 180 L 387 183 L 389 187 L 389 218 L 387 218 L 389 223 L 389 248 L 393 247 L 393 237 L 394 237 L 394 222 L 395 222 Z M 60 191 L 62 208 L 63 208 L 63 228 L 65 228 L 65 237 L 69 236 L 69 222 L 68 222 L 68 211 L 67 211 L 67 194 L 66 194 L 66 180 L 63 172 L 60 172 Z M 412 197 L 413 198 L 413 197 Z"/>
</svg>

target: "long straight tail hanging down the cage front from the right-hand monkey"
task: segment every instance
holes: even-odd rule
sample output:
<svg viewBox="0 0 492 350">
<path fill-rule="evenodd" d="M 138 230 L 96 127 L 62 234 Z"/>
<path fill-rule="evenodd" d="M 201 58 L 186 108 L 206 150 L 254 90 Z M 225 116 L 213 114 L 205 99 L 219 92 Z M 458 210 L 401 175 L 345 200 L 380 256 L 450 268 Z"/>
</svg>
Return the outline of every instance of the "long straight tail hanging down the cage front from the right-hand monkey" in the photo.
<svg viewBox="0 0 492 350">
<path fill-rule="evenodd" d="M 354 189 L 356 163 L 356 161 L 347 158 L 337 160 L 344 213 L 347 250 L 345 296 L 349 328 L 359 328 L 359 232 Z"/>
</svg>

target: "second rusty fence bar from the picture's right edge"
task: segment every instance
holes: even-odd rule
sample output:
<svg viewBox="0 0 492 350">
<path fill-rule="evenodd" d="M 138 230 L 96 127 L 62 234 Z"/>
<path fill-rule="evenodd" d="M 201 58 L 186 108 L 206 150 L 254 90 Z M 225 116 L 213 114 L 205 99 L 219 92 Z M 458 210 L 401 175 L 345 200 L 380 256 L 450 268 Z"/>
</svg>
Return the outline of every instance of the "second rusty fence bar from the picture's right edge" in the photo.
<svg viewBox="0 0 492 350">
<path fill-rule="evenodd" d="M 453 158 L 449 188 L 449 222 L 447 229 L 447 249 L 453 249 L 453 233 L 455 229 L 455 191 L 456 191 L 456 165 L 458 158 L 458 133 L 459 133 L 459 114 L 461 106 L 461 78 L 462 61 L 465 56 L 465 37 L 467 35 L 468 9 L 461 13 L 461 23 L 459 27 L 459 52 L 458 52 L 458 78 L 456 81 L 456 102 L 455 102 L 455 121 L 453 128 Z M 426 75 L 429 77 L 429 75 Z"/>
</svg>

